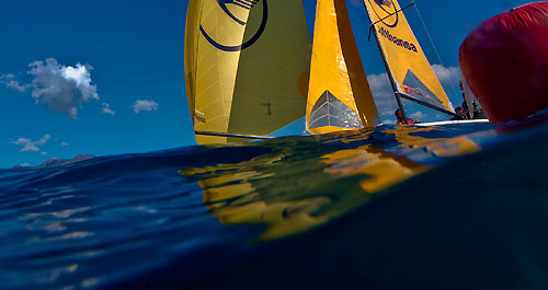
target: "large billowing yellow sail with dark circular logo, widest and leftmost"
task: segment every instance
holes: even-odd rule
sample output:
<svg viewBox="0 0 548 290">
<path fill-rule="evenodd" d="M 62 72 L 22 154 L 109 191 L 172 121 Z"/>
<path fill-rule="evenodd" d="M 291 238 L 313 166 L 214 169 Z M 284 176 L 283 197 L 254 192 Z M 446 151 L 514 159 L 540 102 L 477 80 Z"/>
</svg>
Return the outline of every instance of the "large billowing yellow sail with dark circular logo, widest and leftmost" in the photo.
<svg viewBox="0 0 548 290">
<path fill-rule="evenodd" d="M 191 0 L 184 60 L 194 130 L 267 135 L 302 117 L 310 53 L 302 1 Z"/>
</svg>

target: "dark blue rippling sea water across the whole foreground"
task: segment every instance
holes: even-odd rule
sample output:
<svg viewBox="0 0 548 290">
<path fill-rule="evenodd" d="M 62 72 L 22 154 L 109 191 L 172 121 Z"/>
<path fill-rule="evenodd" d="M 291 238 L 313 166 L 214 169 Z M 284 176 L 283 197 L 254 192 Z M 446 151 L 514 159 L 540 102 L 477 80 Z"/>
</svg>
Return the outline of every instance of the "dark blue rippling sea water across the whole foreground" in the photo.
<svg viewBox="0 0 548 290">
<path fill-rule="evenodd" d="M 0 171 L 1 289 L 547 289 L 548 123 Z"/>
</svg>

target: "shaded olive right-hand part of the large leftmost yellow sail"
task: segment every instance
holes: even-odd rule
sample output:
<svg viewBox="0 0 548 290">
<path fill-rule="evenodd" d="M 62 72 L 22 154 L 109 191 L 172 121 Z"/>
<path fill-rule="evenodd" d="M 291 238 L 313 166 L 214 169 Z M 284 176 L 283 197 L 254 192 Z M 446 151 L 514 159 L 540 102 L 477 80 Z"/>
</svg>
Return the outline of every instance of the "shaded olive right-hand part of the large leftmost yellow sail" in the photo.
<svg viewBox="0 0 548 290">
<path fill-rule="evenodd" d="M 311 38 L 302 1 L 260 1 L 243 38 L 263 24 L 241 50 L 229 132 L 267 135 L 305 116 Z"/>
</svg>

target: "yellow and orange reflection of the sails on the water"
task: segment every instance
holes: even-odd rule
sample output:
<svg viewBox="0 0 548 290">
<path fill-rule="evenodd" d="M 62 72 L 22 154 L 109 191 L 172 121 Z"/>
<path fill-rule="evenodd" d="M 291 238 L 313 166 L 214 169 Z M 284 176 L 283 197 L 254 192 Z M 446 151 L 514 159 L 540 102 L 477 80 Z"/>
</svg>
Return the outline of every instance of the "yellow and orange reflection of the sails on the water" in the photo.
<svg viewBox="0 0 548 290">
<path fill-rule="evenodd" d="M 296 149 L 236 164 L 186 169 L 180 174 L 197 179 L 204 192 L 205 207 L 221 223 L 262 224 L 264 230 L 256 241 L 269 241 L 313 229 L 349 213 L 393 185 L 433 169 L 439 158 L 480 150 L 468 136 L 420 136 L 422 132 L 434 136 L 431 132 L 434 129 L 401 126 L 335 132 L 306 142 L 313 142 L 318 148 L 339 142 L 350 144 L 350 149 L 308 150 L 300 158 Z M 399 146 L 375 144 L 387 138 L 398 140 Z"/>
</svg>

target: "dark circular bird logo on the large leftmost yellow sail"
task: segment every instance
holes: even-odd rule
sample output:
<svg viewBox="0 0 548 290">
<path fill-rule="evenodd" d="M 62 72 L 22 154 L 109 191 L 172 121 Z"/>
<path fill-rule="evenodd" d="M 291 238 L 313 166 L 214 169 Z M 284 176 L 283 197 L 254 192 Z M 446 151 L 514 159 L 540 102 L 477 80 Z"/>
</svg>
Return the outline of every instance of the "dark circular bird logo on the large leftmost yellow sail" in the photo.
<svg viewBox="0 0 548 290">
<path fill-rule="evenodd" d="M 259 40 L 261 35 L 264 33 L 264 30 L 266 28 L 266 21 L 267 21 L 267 16 L 269 16 L 269 5 L 266 3 L 266 0 L 216 0 L 216 1 L 218 2 L 220 9 L 222 9 L 222 11 L 225 11 L 227 16 L 232 19 L 239 25 L 246 25 L 247 23 L 244 21 L 238 19 L 232 12 L 230 12 L 230 10 L 228 9 L 229 5 L 232 5 L 232 8 L 236 8 L 236 9 L 252 10 L 259 3 L 259 1 L 262 1 L 263 2 L 263 15 L 262 15 L 262 20 L 261 20 L 261 25 L 259 26 L 259 30 L 256 31 L 256 33 L 250 39 L 244 40 L 244 43 L 242 43 L 241 45 L 235 45 L 235 46 L 224 45 L 224 44 L 216 42 L 213 37 L 210 37 L 207 34 L 207 32 L 205 31 L 205 28 L 201 24 L 199 31 L 202 32 L 202 35 L 204 35 L 204 38 L 206 38 L 206 40 L 209 44 L 212 44 L 216 48 L 224 50 L 224 51 L 240 51 L 242 49 L 246 49 L 246 48 L 252 46 L 256 40 Z"/>
</svg>

